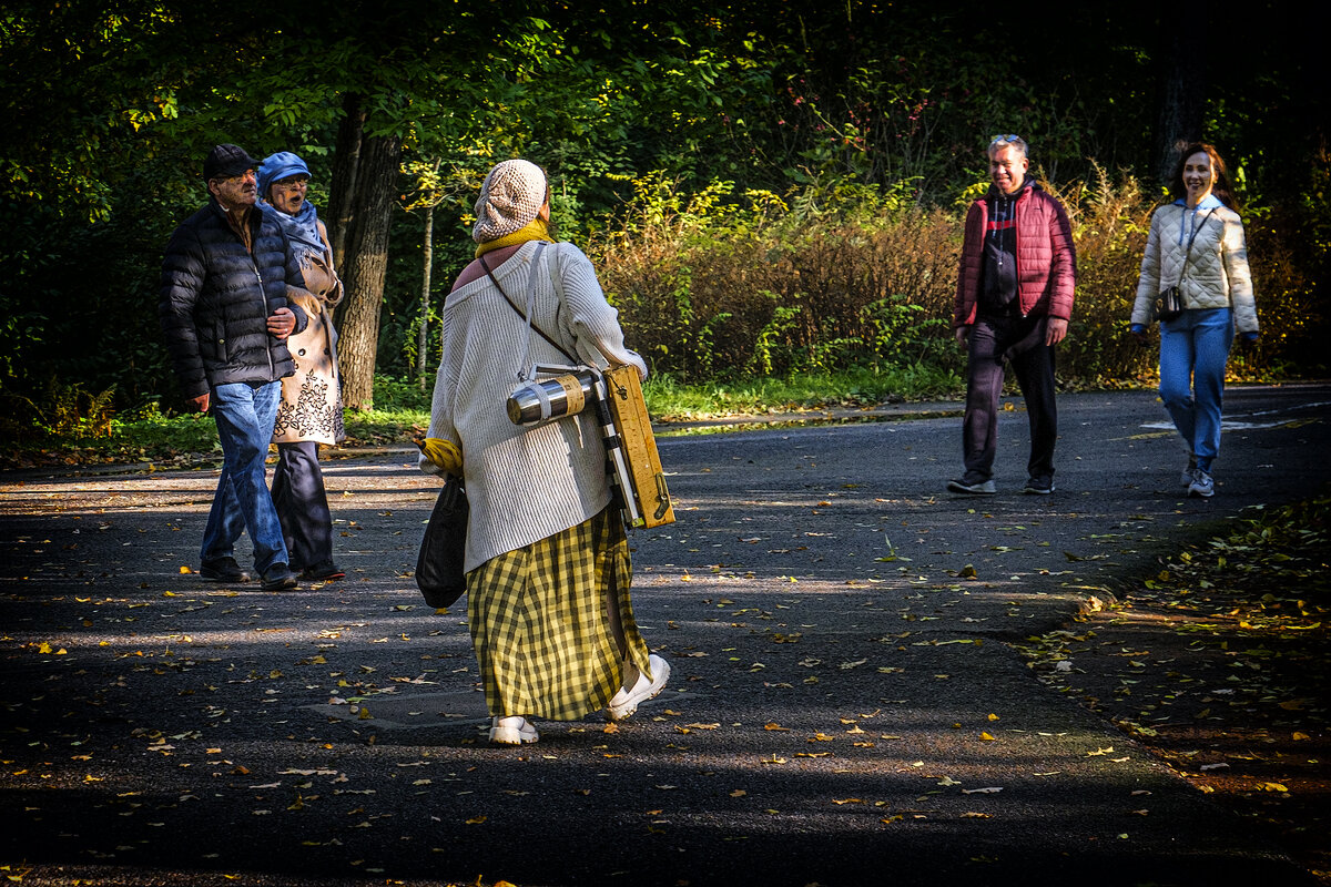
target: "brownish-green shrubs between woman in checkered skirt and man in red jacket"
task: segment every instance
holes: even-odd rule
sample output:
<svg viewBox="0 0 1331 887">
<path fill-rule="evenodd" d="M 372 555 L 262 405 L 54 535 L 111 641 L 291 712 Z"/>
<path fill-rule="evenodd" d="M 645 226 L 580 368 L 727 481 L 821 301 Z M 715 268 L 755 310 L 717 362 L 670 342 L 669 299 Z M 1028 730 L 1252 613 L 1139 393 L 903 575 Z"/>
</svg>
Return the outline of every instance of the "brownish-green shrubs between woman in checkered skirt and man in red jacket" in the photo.
<svg viewBox="0 0 1331 887">
<path fill-rule="evenodd" d="M 848 193 L 820 210 L 715 191 L 675 215 L 638 209 L 591 247 L 630 342 L 685 382 L 954 362 L 956 221 Z"/>
</svg>

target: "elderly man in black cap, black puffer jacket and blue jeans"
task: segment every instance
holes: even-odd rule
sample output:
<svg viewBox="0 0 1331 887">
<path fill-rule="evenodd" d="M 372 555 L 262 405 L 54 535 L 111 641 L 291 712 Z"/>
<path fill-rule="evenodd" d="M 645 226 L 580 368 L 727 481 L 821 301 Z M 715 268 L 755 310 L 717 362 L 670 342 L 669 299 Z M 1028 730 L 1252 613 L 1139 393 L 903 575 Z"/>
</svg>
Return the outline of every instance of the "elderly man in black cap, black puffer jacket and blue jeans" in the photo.
<svg viewBox="0 0 1331 887">
<path fill-rule="evenodd" d="M 281 225 L 254 205 L 257 166 L 236 145 L 208 154 L 210 198 L 166 245 L 158 314 L 185 398 L 201 412 L 212 408 L 222 443 L 200 574 L 248 581 L 236 563 L 236 540 L 248 529 L 264 588 L 280 590 L 295 588 L 295 576 L 264 460 L 281 379 L 295 371 L 286 338 L 307 320 L 287 307 L 287 287 L 305 279 Z"/>
</svg>

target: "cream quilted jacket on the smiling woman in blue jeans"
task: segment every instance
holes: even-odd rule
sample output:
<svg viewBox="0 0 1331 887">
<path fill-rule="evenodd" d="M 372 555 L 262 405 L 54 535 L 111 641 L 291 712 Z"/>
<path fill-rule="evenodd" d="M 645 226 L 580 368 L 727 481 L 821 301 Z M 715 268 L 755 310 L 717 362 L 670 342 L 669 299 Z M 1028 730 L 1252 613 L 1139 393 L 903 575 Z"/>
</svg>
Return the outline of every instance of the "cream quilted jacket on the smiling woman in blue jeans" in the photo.
<svg viewBox="0 0 1331 887">
<path fill-rule="evenodd" d="M 1170 203 L 1151 215 L 1151 233 L 1142 258 L 1142 275 L 1137 283 L 1133 323 L 1150 323 L 1151 307 L 1161 290 L 1179 282 L 1183 251 L 1191 234 L 1185 206 Z M 1206 218 L 1202 222 L 1202 218 Z M 1202 222 L 1189 253 L 1187 269 L 1179 289 L 1189 309 L 1233 309 L 1240 332 L 1256 332 L 1256 302 L 1252 298 L 1252 275 L 1247 265 L 1247 242 L 1243 222 L 1227 206 L 1197 213 Z"/>
</svg>

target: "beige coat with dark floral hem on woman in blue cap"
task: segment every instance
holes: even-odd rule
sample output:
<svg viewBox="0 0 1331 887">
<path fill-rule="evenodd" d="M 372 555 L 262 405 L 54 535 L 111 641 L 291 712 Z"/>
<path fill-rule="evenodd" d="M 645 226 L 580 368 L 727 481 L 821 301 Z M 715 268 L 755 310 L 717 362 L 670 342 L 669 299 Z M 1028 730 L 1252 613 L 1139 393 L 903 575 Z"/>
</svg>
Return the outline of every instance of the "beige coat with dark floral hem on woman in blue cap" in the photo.
<svg viewBox="0 0 1331 887">
<path fill-rule="evenodd" d="M 337 368 L 337 330 L 333 307 L 342 301 L 342 282 L 333 270 L 333 250 L 327 230 L 319 222 L 325 254 L 306 257 L 302 263 L 305 287 L 314 299 L 289 291 L 293 310 L 305 311 L 310 322 L 303 332 L 286 340 L 295 360 L 295 375 L 282 379 L 282 400 L 277 406 L 273 443 L 315 440 L 335 444 L 346 438 L 342 427 L 342 376 Z"/>
</svg>

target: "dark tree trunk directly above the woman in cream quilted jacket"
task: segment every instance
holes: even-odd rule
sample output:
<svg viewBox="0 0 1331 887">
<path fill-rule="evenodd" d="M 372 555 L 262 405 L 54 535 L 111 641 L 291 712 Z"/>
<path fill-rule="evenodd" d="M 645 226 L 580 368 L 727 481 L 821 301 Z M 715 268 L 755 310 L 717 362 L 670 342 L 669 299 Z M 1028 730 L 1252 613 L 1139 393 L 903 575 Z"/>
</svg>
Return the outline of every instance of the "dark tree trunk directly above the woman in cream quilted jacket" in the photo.
<svg viewBox="0 0 1331 887">
<path fill-rule="evenodd" d="M 1185 23 L 1185 16 L 1187 21 Z M 1165 51 L 1161 113 L 1155 129 L 1155 172 L 1169 188 L 1179 154 L 1202 140 L 1206 114 L 1206 16 L 1166 4 L 1161 12 Z"/>
</svg>

